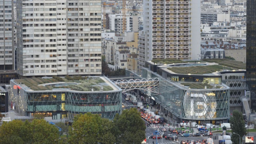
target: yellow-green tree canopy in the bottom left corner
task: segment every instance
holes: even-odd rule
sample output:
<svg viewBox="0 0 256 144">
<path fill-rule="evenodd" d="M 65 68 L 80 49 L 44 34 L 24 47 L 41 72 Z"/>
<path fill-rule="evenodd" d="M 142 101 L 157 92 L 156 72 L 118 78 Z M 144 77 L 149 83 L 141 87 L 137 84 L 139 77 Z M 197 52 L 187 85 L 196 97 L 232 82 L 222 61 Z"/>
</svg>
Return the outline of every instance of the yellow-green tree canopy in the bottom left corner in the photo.
<svg viewBox="0 0 256 144">
<path fill-rule="evenodd" d="M 45 120 L 13 120 L 0 126 L 0 144 L 57 144 L 58 128 Z"/>
</svg>

